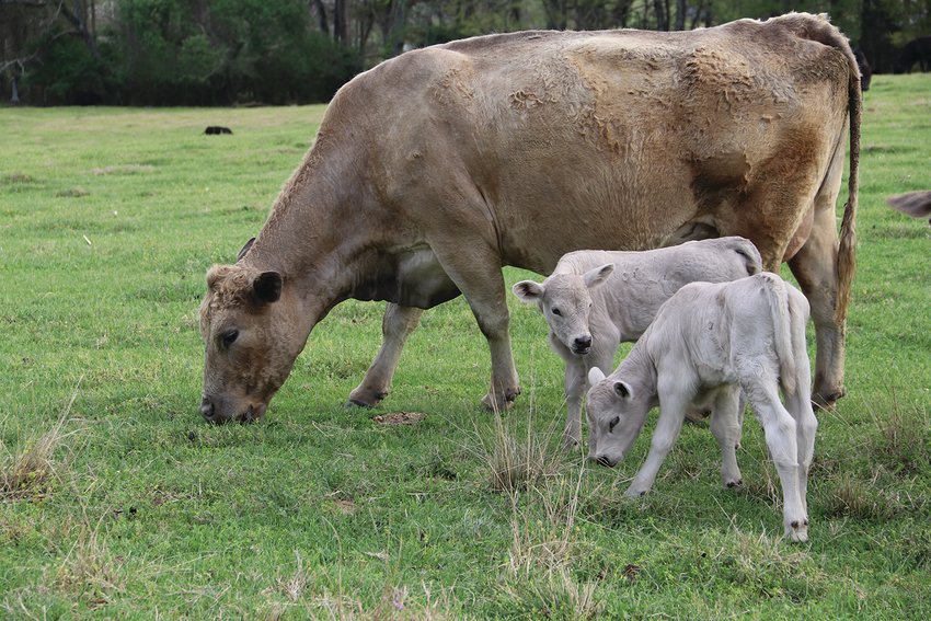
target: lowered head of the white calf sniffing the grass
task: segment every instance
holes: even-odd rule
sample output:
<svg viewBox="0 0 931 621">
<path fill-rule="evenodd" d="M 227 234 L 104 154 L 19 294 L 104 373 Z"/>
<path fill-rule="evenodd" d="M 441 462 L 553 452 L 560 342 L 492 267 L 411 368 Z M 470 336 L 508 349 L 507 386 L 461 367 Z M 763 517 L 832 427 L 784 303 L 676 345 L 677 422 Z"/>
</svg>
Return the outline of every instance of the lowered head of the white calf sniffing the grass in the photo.
<svg viewBox="0 0 931 621">
<path fill-rule="evenodd" d="M 606 379 L 598 367 L 588 371 L 588 456 L 613 468 L 640 436 L 650 412 L 651 395 L 614 376 Z"/>
</svg>

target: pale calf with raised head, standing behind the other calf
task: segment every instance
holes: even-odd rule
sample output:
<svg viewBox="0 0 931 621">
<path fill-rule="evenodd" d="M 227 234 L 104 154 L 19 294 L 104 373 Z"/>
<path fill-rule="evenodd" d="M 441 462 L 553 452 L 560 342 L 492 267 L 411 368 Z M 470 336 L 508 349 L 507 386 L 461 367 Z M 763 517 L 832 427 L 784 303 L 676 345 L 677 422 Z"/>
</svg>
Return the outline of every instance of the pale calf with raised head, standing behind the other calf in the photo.
<svg viewBox="0 0 931 621">
<path fill-rule="evenodd" d="M 682 285 L 735 280 L 761 269 L 756 246 L 731 237 L 644 252 L 571 252 L 543 283 L 514 285 L 515 296 L 543 313 L 550 347 L 565 360 L 563 442 L 579 441 L 588 370 L 610 369 L 618 346 L 636 341 L 659 306 Z"/>
</svg>

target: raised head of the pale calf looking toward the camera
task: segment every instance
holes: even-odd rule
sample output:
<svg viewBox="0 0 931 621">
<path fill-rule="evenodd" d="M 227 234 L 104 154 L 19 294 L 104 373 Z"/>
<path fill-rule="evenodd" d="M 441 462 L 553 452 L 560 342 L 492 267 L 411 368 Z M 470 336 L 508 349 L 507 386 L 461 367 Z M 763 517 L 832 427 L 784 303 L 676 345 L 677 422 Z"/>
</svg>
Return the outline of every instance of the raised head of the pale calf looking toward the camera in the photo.
<svg viewBox="0 0 931 621">
<path fill-rule="evenodd" d="M 512 290 L 528 304 L 537 304 L 547 319 L 553 338 L 576 356 L 584 356 L 591 349 L 589 290 L 605 283 L 613 271 L 614 266 L 608 263 L 581 276 L 554 274 L 543 283 L 521 280 Z"/>
</svg>

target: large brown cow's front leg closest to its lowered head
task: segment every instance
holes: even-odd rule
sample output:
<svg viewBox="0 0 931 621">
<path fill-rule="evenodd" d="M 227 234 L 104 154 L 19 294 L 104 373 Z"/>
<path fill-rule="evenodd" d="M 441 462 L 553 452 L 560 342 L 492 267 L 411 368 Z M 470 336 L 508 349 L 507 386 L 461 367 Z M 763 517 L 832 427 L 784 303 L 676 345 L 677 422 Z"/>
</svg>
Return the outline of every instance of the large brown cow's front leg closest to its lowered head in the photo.
<svg viewBox="0 0 931 621">
<path fill-rule="evenodd" d="M 391 378 L 394 377 L 404 343 L 417 327 L 423 312 L 418 308 L 388 303 L 381 320 L 381 348 L 366 371 L 361 383 L 349 393 L 349 403 L 375 407 L 388 396 Z"/>
</svg>

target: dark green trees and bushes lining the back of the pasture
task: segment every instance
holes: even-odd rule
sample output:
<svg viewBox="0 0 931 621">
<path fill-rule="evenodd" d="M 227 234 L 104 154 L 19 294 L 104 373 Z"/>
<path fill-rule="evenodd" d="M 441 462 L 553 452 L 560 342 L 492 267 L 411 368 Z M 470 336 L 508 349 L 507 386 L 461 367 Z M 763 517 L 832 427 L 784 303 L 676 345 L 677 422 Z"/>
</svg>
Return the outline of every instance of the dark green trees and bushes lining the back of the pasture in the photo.
<svg viewBox="0 0 931 621">
<path fill-rule="evenodd" d="M 0 102 L 325 102 L 405 49 L 528 28 L 691 30 L 827 12 L 874 72 L 931 33 L 931 0 L 0 0 Z"/>
</svg>

